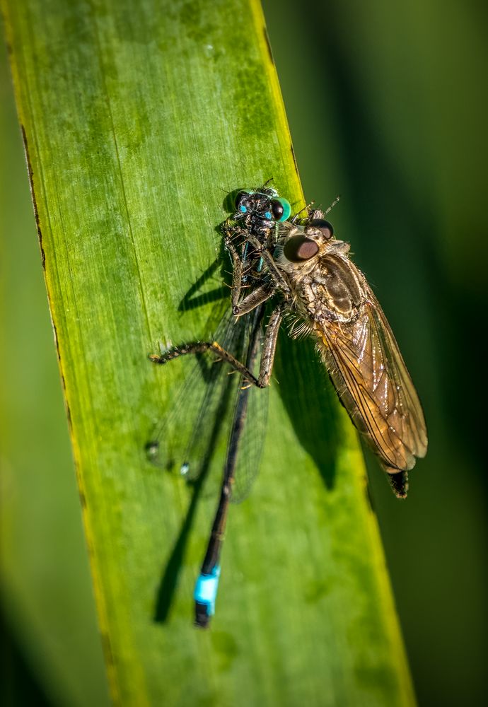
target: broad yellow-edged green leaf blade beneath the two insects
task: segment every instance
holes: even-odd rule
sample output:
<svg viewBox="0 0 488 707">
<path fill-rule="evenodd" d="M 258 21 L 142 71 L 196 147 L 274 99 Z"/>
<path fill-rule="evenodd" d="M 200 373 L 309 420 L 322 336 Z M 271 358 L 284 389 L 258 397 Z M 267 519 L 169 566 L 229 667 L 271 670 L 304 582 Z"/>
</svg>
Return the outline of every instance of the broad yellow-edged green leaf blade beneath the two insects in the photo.
<svg viewBox="0 0 488 707">
<path fill-rule="evenodd" d="M 309 342 L 280 338 L 260 476 L 231 508 L 209 631 L 192 626 L 192 588 L 219 464 L 192 503 L 144 455 L 182 375 L 147 354 L 208 337 L 221 309 L 209 294 L 180 303 L 221 253 L 226 192 L 274 177 L 303 205 L 259 4 L 4 0 L 4 13 L 112 696 L 412 704 L 356 434 Z"/>
</svg>

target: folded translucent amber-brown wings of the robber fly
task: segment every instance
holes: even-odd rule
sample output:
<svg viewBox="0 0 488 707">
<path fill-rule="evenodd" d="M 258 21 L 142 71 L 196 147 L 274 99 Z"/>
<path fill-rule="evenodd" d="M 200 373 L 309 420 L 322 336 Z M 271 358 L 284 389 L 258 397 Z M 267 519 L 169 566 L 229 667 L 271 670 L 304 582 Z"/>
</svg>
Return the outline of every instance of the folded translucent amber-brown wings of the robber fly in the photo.
<svg viewBox="0 0 488 707">
<path fill-rule="evenodd" d="M 397 341 L 373 292 L 352 323 L 315 323 L 320 349 L 344 407 L 390 472 L 424 457 L 422 407 Z"/>
</svg>

